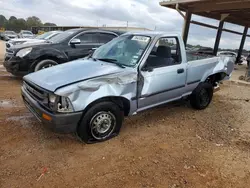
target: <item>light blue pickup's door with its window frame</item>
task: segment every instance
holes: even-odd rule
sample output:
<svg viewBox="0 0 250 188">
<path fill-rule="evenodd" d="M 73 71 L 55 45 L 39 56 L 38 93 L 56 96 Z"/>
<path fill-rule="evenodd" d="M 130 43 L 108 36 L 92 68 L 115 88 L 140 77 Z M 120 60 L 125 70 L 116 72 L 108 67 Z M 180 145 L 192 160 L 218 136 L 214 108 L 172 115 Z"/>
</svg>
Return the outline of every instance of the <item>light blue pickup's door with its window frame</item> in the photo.
<svg viewBox="0 0 250 188">
<path fill-rule="evenodd" d="M 140 70 L 138 109 L 180 98 L 186 85 L 186 67 L 178 38 L 160 38 Z"/>
</svg>

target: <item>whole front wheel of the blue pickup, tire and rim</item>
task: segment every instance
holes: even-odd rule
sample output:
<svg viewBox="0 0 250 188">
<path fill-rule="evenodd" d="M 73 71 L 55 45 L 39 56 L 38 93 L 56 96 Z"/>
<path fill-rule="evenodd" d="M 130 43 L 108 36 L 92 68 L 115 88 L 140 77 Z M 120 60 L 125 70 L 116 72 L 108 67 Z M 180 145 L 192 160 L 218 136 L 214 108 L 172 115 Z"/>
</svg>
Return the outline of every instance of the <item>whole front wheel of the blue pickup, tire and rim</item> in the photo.
<svg viewBox="0 0 250 188">
<path fill-rule="evenodd" d="M 84 114 L 77 135 L 86 143 L 106 141 L 119 134 L 123 119 L 124 112 L 115 103 L 97 103 Z"/>
</svg>

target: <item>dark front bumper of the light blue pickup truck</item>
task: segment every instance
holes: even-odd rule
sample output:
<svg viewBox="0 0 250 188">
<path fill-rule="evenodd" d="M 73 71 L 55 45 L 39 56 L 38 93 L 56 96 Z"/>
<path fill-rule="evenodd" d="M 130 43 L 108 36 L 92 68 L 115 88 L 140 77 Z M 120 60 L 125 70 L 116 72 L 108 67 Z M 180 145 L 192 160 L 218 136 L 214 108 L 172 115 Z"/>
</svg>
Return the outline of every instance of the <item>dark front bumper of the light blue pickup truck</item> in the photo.
<svg viewBox="0 0 250 188">
<path fill-rule="evenodd" d="M 54 132 L 72 133 L 76 132 L 77 125 L 81 119 L 82 112 L 74 112 L 67 114 L 54 114 L 44 109 L 36 100 L 34 100 L 28 92 L 22 87 L 22 98 L 25 106 L 45 127 Z M 43 118 L 43 114 L 51 117 L 51 120 Z"/>
</svg>

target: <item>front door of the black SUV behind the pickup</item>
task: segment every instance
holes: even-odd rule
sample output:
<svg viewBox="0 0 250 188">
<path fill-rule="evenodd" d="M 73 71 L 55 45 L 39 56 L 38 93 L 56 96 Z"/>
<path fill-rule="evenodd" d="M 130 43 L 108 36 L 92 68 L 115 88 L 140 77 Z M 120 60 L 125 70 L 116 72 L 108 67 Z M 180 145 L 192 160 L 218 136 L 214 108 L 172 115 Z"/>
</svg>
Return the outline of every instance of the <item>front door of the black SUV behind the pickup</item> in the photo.
<svg viewBox="0 0 250 188">
<path fill-rule="evenodd" d="M 81 43 L 71 45 L 69 42 L 70 48 L 67 51 L 69 60 L 83 58 L 89 55 L 92 49 L 98 48 L 100 46 L 97 32 L 83 32 L 73 37 L 72 39 L 79 39 Z"/>
</svg>

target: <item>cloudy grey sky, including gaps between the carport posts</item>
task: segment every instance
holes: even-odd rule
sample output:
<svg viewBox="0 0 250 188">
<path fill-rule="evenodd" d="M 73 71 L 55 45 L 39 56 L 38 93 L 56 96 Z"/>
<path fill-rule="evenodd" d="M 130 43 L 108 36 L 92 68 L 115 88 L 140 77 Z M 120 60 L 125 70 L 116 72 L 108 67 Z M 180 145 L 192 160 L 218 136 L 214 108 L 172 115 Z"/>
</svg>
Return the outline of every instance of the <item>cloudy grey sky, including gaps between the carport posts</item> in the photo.
<svg viewBox="0 0 250 188">
<path fill-rule="evenodd" d="M 183 18 L 176 10 L 161 7 L 160 0 L 0 0 L 0 14 L 39 17 L 43 23 L 62 26 L 145 27 L 168 33 L 182 33 Z M 216 20 L 192 16 L 192 20 L 219 25 Z M 225 28 L 243 32 L 243 27 L 226 23 Z M 249 31 L 250 33 L 250 31 Z M 216 30 L 191 25 L 188 43 L 213 47 Z M 220 48 L 238 49 L 241 36 L 223 32 Z M 245 49 L 250 50 L 250 38 Z"/>
</svg>

